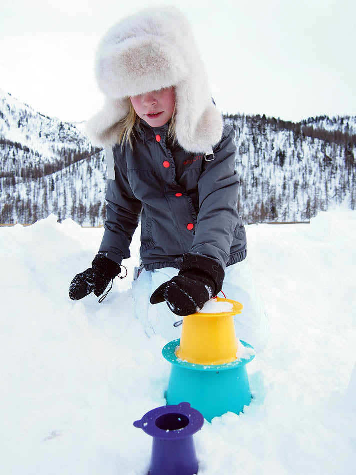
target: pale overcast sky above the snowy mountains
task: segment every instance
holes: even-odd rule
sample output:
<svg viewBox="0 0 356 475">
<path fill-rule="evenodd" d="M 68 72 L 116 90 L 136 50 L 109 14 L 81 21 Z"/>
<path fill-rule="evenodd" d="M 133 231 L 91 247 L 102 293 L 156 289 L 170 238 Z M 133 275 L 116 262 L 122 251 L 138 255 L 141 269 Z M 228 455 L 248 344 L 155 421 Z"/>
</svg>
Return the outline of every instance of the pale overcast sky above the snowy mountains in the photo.
<svg viewBox="0 0 356 475">
<path fill-rule="evenodd" d="M 0 89 L 64 121 L 90 118 L 103 103 L 99 39 L 121 17 L 160 5 L 190 20 L 222 112 L 356 115 L 354 0 L 2 0 Z"/>
</svg>

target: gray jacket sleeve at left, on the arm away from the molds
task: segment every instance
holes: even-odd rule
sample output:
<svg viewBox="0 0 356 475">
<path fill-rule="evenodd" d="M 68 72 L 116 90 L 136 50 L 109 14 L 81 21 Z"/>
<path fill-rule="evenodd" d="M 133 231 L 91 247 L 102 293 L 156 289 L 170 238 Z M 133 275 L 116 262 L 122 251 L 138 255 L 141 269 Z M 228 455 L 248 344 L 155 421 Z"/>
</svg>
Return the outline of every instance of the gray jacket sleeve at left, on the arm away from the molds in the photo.
<svg viewBox="0 0 356 475">
<path fill-rule="evenodd" d="M 130 257 L 129 246 L 138 224 L 141 201 L 135 198 L 127 178 L 127 167 L 118 147 L 114 149 L 115 179 L 108 180 L 106 220 L 99 253 L 121 264 Z"/>
</svg>

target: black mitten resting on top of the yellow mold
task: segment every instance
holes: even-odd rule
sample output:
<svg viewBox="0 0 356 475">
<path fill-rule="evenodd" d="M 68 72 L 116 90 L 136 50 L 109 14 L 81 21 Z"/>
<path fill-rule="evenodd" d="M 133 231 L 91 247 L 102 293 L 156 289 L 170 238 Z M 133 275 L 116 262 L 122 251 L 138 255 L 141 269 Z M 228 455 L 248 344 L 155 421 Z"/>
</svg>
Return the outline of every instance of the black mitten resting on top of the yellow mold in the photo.
<svg viewBox="0 0 356 475">
<path fill-rule="evenodd" d="M 178 276 L 160 285 L 151 295 L 150 302 L 166 301 L 176 315 L 190 315 L 220 292 L 224 276 L 222 266 L 215 259 L 185 254 Z"/>
</svg>

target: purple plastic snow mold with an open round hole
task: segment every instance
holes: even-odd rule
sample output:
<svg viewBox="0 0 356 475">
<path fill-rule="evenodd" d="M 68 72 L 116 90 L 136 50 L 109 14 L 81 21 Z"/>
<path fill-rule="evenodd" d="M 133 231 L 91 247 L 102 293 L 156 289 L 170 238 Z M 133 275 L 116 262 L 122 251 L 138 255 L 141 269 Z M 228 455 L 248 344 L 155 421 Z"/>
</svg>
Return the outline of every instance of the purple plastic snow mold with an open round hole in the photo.
<svg viewBox="0 0 356 475">
<path fill-rule="evenodd" d="M 194 475 L 198 472 L 193 435 L 204 417 L 188 402 L 157 407 L 134 426 L 153 437 L 148 475 Z"/>
</svg>

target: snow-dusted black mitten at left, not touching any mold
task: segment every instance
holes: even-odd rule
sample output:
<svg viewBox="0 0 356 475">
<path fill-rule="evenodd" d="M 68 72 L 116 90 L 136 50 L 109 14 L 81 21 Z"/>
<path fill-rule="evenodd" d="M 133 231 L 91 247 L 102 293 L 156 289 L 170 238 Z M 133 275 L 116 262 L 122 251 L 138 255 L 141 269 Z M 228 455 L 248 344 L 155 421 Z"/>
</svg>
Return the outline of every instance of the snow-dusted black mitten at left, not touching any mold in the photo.
<svg viewBox="0 0 356 475">
<path fill-rule="evenodd" d="M 80 272 L 72 280 L 69 297 L 72 300 L 79 300 L 91 292 L 99 297 L 120 270 L 117 262 L 108 259 L 104 254 L 97 254 L 92 261 L 92 267 Z"/>
</svg>

